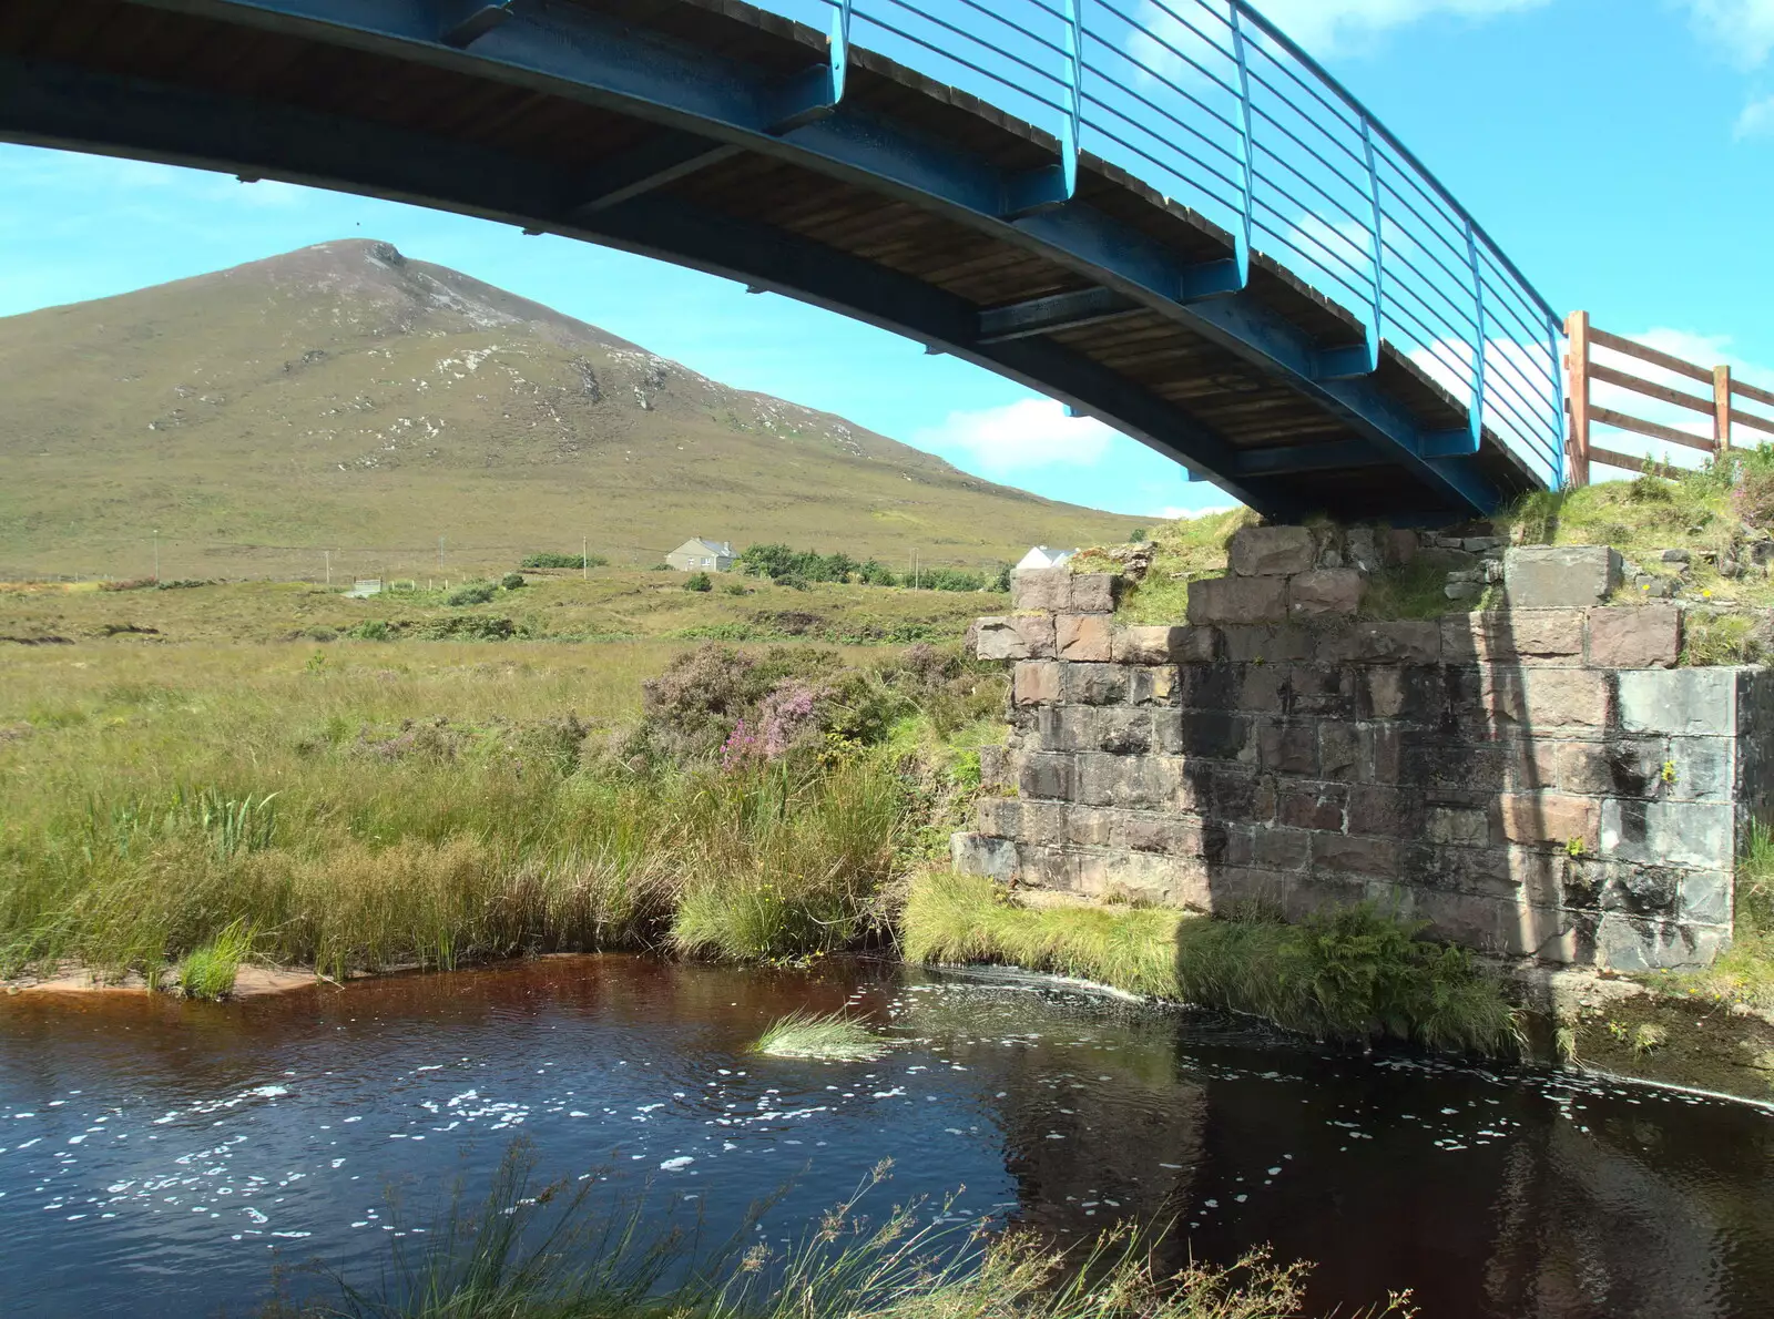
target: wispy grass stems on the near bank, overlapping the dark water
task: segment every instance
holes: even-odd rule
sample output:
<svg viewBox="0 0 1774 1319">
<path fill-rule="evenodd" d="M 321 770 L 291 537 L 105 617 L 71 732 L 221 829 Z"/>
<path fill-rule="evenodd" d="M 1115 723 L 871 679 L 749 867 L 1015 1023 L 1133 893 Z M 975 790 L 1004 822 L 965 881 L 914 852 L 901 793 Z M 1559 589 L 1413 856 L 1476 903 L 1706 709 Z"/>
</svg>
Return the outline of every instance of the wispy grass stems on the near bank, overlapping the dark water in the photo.
<svg viewBox="0 0 1774 1319">
<path fill-rule="evenodd" d="M 456 1213 L 420 1253 L 396 1253 L 376 1291 L 273 1305 L 266 1319 L 1300 1319 L 1309 1266 L 1254 1252 L 1231 1268 L 1157 1262 L 1160 1232 L 1118 1227 L 1057 1250 L 1029 1232 L 940 1223 L 938 1206 L 880 1220 L 880 1165 L 782 1253 L 736 1232 L 715 1250 L 598 1211 L 589 1186 L 532 1188 L 522 1151 L 479 1213 Z M 564 1198 L 564 1206 L 559 1202 Z M 667 1276 L 685 1278 L 665 1282 Z M 1409 1319 L 1407 1296 L 1364 1312 Z M 1361 1315 L 1352 1315 L 1361 1319 Z"/>
</svg>

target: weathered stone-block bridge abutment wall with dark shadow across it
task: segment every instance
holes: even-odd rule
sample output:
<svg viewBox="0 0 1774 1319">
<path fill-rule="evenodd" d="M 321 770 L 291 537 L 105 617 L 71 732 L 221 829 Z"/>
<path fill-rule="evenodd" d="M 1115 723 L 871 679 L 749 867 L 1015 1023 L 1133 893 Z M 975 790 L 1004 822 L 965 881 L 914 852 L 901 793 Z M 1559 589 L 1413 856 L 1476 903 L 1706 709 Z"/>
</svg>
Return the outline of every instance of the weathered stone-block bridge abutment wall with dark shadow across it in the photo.
<svg viewBox="0 0 1774 1319">
<path fill-rule="evenodd" d="M 1197 583 L 1176 628 L 1119 626 L 1116 578 L 1020 574 L 1018 612 L 976 633 L 1015 663 L 1011 738 L 956 867 L 1203 911 L 1375 899 L 1494 952 L 1710 963 L 1770 805 L 1774 674 L 1676 668 L 1664 603 L 1291 610 L 1300 574 L 1302 599 L 1359 597 L 1325 571 Z"/>
</svg>

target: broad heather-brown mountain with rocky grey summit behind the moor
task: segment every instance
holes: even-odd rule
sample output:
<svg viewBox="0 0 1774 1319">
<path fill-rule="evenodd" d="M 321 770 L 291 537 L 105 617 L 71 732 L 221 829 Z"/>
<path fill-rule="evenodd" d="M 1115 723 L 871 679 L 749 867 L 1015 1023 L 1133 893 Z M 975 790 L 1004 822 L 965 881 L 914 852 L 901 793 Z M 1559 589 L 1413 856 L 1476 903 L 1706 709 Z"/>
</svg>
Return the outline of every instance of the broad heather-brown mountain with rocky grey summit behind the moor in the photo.
<svg viewBox="0 0 1774 1319">
<path fill-rule="evenodd" d="M 690 535 L 979 566 L 1121 539 L 841 417 L 337 241 L 0 319 L 0 576 L 445 573 Z"/>
</svg>

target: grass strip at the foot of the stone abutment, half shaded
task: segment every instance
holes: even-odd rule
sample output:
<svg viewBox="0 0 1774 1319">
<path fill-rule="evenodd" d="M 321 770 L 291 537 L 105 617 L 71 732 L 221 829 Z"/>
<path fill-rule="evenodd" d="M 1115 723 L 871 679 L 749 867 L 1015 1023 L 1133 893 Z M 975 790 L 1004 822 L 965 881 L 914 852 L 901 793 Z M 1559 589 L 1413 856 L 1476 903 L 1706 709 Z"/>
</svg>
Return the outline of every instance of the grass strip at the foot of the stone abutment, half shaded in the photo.
<svg viewBox="0 0 1774 1319">
<path fill-rule="evenodd" d="M 1299 925 L 1167 908 L 1029 908 L 990 879 L 930 874 L 912 886 L 901 943 L 910 961 L 1004 961 L 1254 1012 L 1327 1039 L 1387 1035 L 1481 1053 L 1519 1042 L 1501 986 L 1465 950 L 1417 940 L 1370 906 Z"/>
</svg>

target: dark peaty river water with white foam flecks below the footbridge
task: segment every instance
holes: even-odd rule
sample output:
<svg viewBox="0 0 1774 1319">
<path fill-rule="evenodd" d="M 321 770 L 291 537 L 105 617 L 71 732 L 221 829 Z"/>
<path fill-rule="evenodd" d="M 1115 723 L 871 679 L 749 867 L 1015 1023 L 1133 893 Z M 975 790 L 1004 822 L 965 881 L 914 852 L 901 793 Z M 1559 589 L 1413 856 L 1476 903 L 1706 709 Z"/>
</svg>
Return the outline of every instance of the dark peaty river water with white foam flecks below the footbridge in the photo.
<svg viewBox="0 0 1774 1319">
<path fill-rule="evenodd" d="M 901 1048 L 747 1053 L 846 1003 Z M 798 1236 L 891 1158 L 883 1202 L 965 1186 L 949 1213 L 1070 1237 L 1174 1221 L 1178 1262 L 1274 1243 L 1318 1262 L 1325 1310 L 1412 1287 L 1430 1319 L 1774 1314 L 1774 1117 L 1749 1106 L 1018 977 L 616 956 L 239 1005 L 0 1000 L 0 1314 L 241 1314 L 312 1257 L 373 1284 L 514 1135 L 548 1177 L 651 1182 L 651 1211 L 717 1234 L 786 1186 L 761 1230 Z"/>
</svg>

